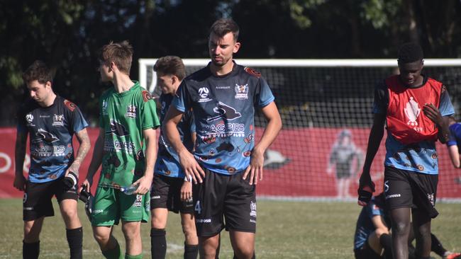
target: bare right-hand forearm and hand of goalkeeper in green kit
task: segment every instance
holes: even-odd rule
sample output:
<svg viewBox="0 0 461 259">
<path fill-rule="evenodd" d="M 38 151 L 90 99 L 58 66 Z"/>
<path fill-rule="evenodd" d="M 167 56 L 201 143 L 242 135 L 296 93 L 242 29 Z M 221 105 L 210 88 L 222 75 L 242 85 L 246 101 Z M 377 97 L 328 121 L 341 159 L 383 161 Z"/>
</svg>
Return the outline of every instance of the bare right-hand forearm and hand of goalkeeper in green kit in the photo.
<svg viewBox="0 0 461 259">
<path fill-rule="evenodd" d="M 144 195 L 150 190 L 152 180 L 154 178 L 154 165 L 157 158 L 157 138 L 155 137 L 155 129 L 144 129 L 143 135 L 145 139 L 145 171 L 143 177 L 139 178 L 134 184 L 139 184 L 136 189 L 137 194 Z"/>
</svg>

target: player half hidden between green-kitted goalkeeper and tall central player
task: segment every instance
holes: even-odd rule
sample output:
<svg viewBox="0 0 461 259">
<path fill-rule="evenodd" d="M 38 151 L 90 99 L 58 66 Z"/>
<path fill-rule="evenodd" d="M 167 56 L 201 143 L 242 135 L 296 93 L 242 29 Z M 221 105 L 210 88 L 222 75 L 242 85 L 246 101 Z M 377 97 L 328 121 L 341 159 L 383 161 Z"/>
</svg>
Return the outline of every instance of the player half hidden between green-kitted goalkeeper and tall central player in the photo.
<svg viewBox="0 0 461 259">
<path fill-rule="evenodd" d="M 157 72 L 157 86 L 162 90 L 160 96 L 160 120 L 165 118 L 168 108 L 176 94 L 179 84 L 186 77 L 186 68 L 179 57 L 160 57 L 154 65 Z M 187 150 L 192 151 L 195 142 L 194 117 L 191 110 L 184 113 L 177 125 L 181 141 Z M 179 164 L 179 157 L 168 143 L 163 131 L 160 132 L 159 150 L 155 163 L 154 180 L 150 192 L 150 209 L 152 229 L 150 243 L 152 258 L 165 258 L 167 241 L 165 227 L 168 211 L 181 213 L 182 231 L 184 232 L 184 258 L 197 258 L 199 239 L 196 235 L 194 221 L 194 204 L 192 203 L 192 183 Z"/>
</svg>

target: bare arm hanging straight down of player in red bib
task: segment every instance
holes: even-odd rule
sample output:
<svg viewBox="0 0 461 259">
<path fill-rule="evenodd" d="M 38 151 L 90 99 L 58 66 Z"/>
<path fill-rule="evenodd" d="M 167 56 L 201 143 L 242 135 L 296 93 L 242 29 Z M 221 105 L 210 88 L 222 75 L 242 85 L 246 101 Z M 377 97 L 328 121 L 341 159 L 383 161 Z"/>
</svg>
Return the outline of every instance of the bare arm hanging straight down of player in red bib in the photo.
<svg viewBox="0 0 461 259">
<path fill-rule="evenodd" d="M 382 137 L 384 137 L 384 122 L 386 121 L 386 115 L 375 113 L 373 117 L 373 125 L 370 130 L 370 137 L 368 137 L 367 144 L 367 155 L 365 156 L 365 163 L 363 164 L 362 175 L 360 175 L 359 180 L 359 205 L 365 206 L 372 198 L 372 193 L 374 192 L 374 183 L 370 175 L 370 168 L 374 156 L 379 149 L 379 144 L 381 144 Z M 366 193 L 366 197 L 362 196 L 363 191 L 369 192 Z"/>
</svg>

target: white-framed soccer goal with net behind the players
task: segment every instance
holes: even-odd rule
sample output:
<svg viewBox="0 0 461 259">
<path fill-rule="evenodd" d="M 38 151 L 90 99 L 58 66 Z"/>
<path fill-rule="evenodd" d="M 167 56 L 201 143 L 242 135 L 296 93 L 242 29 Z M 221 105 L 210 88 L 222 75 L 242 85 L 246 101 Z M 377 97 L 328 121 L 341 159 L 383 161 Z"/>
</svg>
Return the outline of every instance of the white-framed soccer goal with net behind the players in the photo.
<svg viewBox="0 0 461 259">
<path fill-rule="evenodd" d="M 140 84 L 154 95 L 156 59 L 139 59 Z M 187 74 L 209 59 L 183 59 Z M 264 179 L 258 197 L 290 200 L 356 200 L 358 177 L 372 125 L 374 86 L 398 73 L 394 59 L 235 59 L 260 71 L 274 93 L 283 129 L 265 154 Z M 423 74 L 447 86 L 459 115 L 461 59 L 426 59 Z M 458 118 L 458 117 L 457 117 Z M 255 117 L 257 138 L 265 119 Z M 371 174 L 382 191 L 385 147 L 372 163 Z M 448 151 L 437 144 L 440 176 L 438 199 L 461 200 L 461 173 Z"/>
</svg>

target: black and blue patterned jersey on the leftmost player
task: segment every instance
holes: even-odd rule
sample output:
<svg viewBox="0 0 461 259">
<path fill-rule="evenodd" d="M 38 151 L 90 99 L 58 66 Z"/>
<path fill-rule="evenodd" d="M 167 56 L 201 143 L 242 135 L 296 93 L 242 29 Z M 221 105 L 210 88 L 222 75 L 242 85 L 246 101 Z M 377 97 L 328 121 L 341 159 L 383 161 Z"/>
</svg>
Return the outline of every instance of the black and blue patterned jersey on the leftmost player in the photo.
<svg viewBox="0 0 461 259">
<path fill-rule="evenodd" d="M 72 136 L 88 127 L 77 105 L 56 96 L 50 107 L 29 100 L 18 111 L 18 132 L 30 137 L 29 180 L 45 183 L 64 176 L 74 161 Z"/>
</svg>

